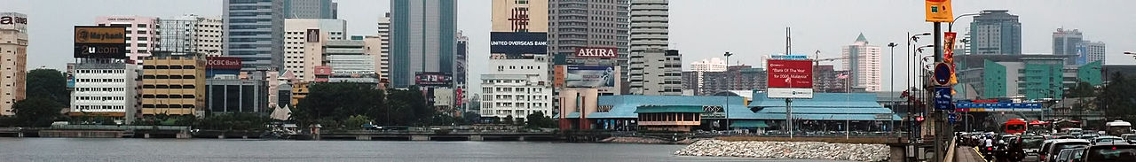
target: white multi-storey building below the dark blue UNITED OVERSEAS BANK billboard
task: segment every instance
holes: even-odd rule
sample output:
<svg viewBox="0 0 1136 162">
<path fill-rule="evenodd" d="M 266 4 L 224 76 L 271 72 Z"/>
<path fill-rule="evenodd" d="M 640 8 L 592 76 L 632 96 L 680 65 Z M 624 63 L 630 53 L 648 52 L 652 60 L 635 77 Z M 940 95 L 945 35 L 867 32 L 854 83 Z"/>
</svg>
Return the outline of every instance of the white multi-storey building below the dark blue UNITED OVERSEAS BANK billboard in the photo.
<svg viewBox="0 0 1136 162">
<path fill-rule="evenodd" d="M 552 116 L 552 83 L 548 56 L 529 59 L 490 59 L 488 73 L 482 75 L 483 118 L 525 118 L 534 112 Z"/>
</svg>

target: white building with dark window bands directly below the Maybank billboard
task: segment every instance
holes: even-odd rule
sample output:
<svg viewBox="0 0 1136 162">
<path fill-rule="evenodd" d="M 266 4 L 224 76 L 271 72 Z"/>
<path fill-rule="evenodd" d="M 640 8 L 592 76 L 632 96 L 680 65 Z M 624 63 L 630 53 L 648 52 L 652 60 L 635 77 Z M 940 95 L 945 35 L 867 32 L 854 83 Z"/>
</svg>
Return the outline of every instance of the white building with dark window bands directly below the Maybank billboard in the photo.
<svg viewBox="0 0 1136 162">
<path fill-rule="evenodd" d="M 70 116 L 107 116 L 131 123 L 137 103 L 137 66 L 110 60 L 85 59 L 75 63 L 75 89 Z"/>
</svg>

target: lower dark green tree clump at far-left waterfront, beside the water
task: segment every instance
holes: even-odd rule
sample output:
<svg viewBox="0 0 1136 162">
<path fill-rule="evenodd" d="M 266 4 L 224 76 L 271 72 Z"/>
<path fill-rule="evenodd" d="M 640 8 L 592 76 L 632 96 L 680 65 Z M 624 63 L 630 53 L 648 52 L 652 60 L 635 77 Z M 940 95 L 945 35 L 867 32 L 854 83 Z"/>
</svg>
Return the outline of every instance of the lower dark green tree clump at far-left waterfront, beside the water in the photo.
<svg viewBox="0 0 1136 162">
<path fill-rule="evenodd" d="M 56 118 L 62 114 L 59 111 L 64 105 L 43 97 L 30 97 L 16 101 L 12 111 L 16 113 L 16 122 L 24 127 L 48 127 Z"/>
</svg>

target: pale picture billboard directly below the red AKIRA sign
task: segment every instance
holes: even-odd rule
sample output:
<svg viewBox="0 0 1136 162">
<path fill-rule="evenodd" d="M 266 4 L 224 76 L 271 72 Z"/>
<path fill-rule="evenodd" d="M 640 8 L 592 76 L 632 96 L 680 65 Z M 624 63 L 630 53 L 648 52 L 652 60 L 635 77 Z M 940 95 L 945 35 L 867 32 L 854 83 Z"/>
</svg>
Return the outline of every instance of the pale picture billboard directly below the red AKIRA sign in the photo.
<svg viewBox="0 0 1136 162">
<path fill-rule="evenodd" d="M 617 75 L 615 67 L 569 66 L 563 79 L 566 87 L 613 87 Z"/>
</svg>

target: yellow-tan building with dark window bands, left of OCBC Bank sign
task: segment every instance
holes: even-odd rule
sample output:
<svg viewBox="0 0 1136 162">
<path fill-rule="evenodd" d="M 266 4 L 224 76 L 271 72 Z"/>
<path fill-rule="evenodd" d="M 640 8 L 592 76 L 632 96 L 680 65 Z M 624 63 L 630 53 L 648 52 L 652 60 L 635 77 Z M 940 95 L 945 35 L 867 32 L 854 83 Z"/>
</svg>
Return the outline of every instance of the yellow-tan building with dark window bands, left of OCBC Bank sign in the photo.
<svg viewBox="0 0 1136 162">
<path fill-rule="evenodd" d="M 154 56 L 142 65 L 142 116 L 202 116 L 206 60 L 193 56 Z"/>
</svg>

